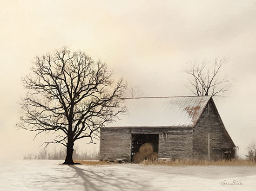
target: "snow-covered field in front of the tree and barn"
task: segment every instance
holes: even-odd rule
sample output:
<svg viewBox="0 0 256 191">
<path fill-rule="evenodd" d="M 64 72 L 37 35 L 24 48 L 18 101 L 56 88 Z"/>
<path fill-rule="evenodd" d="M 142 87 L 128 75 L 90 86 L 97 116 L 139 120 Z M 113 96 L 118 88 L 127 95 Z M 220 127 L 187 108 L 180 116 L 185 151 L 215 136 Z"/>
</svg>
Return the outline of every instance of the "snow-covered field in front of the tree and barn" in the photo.
<svg viewBox="0 0 256 191">
<path fill-rule="evenodd" d="M 59 165 L 61 162 L 63 161 L 1 161 L 0 190 L 256 191 L 256 166 L 66 166 Z M 223 181 L 236 181 L 236 184 L 243 185 L 225 185 Z"/>
</svg>

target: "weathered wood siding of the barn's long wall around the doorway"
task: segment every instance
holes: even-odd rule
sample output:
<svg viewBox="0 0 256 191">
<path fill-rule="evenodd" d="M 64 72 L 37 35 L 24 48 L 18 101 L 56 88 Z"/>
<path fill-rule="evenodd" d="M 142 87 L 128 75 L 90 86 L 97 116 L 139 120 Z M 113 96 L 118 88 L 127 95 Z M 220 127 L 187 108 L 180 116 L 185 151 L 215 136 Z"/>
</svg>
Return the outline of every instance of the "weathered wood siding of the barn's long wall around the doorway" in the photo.
<svg viewBox="0 0 256 191">
<path fill-rule="evenodd" d="M 160 158 L 192 158 L 192 127 L 110 127 L 101 129 L 100 159 L 131 161 L 132 134 L 158 134 Z"/>
</svg>

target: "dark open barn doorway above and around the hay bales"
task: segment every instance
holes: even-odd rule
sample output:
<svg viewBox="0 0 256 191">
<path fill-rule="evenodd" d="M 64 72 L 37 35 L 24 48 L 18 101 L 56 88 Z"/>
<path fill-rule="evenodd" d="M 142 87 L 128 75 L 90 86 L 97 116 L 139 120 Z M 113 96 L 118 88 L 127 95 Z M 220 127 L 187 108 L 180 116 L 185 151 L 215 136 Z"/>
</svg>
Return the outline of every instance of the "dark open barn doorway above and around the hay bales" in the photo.
<svg viewBox="0 0 256 191">
<path fill-rule="evenodd" d="M 152 143 L 154 152 L 158 153 L 158 139 L 158 134 L 132 134 L 131 161 L 133 162 L 133 155 L 139 152 L 141 145 L 144 143 Z"/>
</svg>

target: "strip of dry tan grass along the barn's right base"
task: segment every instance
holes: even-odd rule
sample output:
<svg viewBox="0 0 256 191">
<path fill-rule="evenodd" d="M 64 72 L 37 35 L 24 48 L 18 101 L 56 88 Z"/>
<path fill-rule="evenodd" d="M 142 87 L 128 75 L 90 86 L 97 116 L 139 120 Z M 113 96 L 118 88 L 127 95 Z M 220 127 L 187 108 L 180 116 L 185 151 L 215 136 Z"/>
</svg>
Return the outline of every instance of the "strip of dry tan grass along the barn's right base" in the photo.
<svg viewBox="0 0 256 191">
<path fill-rule="evenodd" d="M 167 166 L 256 166 L 256 163 L 249 160 L 144 160 L 143 165 L 167 165 Z"/>
</svg>

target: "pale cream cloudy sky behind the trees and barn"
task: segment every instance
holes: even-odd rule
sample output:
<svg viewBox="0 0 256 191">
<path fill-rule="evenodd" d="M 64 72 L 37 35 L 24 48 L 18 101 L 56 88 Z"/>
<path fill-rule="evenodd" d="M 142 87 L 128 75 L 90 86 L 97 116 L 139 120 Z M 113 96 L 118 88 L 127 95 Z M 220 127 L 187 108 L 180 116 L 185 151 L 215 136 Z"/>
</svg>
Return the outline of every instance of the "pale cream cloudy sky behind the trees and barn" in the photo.
<svg viewBox="0 0 256 191">
<path fill-rule="evenodd" d="M 0 43 L 0 158 L 21 159 L 50 139 L 13 126 L 21 77 L 34 56 L 62 46 L 106 62 L 145 96 L 192 95 L 185 64 L 227 56 L 222 75 L 233 87 L 216 106 L 241 155 L 256 140 L 255 0 L 1 0 Z"/>
</svg>

